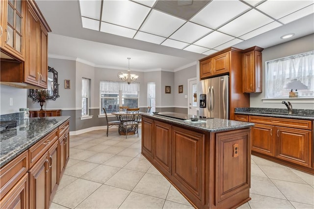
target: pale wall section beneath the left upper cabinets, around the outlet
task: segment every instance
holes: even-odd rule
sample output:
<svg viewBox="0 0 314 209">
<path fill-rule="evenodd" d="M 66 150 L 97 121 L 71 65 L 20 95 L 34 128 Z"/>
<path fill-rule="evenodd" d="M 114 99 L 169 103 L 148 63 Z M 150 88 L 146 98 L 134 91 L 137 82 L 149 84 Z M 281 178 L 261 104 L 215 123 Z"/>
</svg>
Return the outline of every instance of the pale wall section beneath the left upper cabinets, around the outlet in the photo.
<svg viewBox="0 0 314 209">
<path fill-rule="evenodd" d="M 19 112 L 21 107 L 26 107 L 27 89 L 0 85 L 0 115 Z M 13 99 L 10 106 L 9 100 Z"/>
</svg>

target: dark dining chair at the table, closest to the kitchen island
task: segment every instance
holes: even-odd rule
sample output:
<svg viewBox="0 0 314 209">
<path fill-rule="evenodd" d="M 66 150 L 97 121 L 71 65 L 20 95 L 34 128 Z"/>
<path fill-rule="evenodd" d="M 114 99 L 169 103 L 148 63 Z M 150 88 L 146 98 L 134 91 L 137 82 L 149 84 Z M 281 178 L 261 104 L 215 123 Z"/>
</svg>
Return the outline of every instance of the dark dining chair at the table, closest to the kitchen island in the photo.
<svg viewBox="0 0 314 209">
<path fill-rule="evenodd" d="M 121 122 L 120 132 L 123 131 L 128 138 L 128 133 L 137 133 L 138 137 L 138 120 L 140 118 L 139 108 L 127 108 L 127 113 L 119 115 Z"/>
</svg>

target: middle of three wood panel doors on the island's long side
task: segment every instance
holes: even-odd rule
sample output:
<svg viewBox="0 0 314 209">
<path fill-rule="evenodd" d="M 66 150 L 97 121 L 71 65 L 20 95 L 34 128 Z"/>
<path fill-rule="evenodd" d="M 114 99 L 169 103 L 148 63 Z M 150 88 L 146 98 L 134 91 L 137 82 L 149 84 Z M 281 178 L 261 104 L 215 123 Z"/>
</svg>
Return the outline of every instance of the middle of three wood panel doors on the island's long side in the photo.
<svg viewBox="0 0 314 209">
<path fill-rule="evenodd" d="M 171 125 L 155 121 L 154 162 L 165 174 L 171 175 Z"/>
</svg>

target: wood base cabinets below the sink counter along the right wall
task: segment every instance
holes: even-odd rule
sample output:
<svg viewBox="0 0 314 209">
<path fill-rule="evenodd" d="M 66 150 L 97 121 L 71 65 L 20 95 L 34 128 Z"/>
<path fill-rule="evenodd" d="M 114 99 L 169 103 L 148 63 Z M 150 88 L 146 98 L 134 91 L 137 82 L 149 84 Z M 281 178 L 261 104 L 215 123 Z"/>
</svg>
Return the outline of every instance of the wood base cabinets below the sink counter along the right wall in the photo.
<svg viewBox="0 0 314 209">
<path fill-rule="evenodd" d="M 247 121 L 255 123 L 252 154 L 314 174 L 313 121 L 253 115 Z"/>
</svg>

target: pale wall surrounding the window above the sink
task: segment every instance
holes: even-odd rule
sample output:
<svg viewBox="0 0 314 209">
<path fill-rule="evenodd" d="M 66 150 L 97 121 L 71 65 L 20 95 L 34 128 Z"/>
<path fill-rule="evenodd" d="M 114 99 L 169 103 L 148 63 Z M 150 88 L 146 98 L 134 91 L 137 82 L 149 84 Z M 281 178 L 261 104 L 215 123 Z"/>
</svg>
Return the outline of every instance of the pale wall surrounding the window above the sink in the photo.
<svg viewBox="0 0 314 209">
<path fill-rule="evenodd" d="M 262 99 L 265 98 L 265 62 L 313 50 L 314 34 L 264 49 L 262 51 L 262 93 L 250 94 L 250 106 L 263 108 L 286 108 L 284 104 L 281 104 L 282 100 L 278 100 L 277 103 L 262 102 Z M 298 103 L 300 100 L 286 99 L 286 101 L 290 101 L 294 109 L 314 109 L 313 99 L 310 100 L 312 101 L 310 104 Z"/>
</svg>

